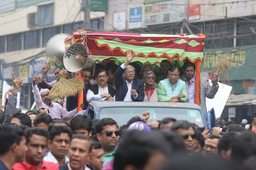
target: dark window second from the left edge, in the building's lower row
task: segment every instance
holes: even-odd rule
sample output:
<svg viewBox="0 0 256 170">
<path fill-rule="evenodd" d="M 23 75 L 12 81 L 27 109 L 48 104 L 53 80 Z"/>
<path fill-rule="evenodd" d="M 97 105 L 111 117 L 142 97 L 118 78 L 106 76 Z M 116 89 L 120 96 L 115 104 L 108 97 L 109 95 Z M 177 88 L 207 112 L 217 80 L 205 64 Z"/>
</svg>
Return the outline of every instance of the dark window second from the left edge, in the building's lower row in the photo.
<svg viewBox="0 0 256 170">
<path fill-rule="evenodd" d="M 7 36 L 7 52 L 21 50 L 22 33 Z"/>
</svg>

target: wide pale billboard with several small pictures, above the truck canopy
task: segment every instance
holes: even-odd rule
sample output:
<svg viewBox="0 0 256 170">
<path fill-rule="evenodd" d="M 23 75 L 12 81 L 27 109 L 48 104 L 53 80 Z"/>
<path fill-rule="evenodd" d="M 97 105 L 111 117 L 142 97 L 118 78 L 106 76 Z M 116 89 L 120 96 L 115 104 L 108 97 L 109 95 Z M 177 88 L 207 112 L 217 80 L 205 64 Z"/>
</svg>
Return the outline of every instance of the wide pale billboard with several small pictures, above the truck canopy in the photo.
<svg viewBox="0 0 256 170">
<path fill-rule="evenodd" d="M 180 22 L 184 18 L 184 0 L 173 0 L 145 5 L 144 25 Z"/>
</svg>

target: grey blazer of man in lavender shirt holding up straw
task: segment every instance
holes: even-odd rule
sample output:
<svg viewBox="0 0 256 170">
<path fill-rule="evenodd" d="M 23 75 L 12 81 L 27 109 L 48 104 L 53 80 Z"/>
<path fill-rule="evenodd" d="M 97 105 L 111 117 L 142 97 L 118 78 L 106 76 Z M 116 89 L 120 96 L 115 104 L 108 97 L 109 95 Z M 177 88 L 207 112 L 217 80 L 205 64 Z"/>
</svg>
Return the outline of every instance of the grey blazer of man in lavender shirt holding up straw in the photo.
<svg viewBox="0 0 256 170">
<path fill-rule="evenodd" d="M 180 78 L 181 80 L 185 81 L 185 76 Z M 216 87 L 212 85 L 212 87 L 209 84 L 208 78 L 200 77 L 200 107 L 204 110 L 204 115 L 207 120 L 207 109 L 206 109 L 206 100 L 205 97 L 208 99 L 213 99 L 215 94 L 217 93 L 219 89 L 219 85 Z"/>
</svg>

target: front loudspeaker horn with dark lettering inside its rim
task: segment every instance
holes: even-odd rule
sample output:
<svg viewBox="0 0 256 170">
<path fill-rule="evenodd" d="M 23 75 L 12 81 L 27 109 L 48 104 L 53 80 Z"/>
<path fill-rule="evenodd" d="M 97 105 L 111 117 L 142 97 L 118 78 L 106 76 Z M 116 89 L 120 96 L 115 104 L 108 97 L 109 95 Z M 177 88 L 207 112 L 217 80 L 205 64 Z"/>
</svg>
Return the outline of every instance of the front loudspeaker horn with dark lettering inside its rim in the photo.
<svg viewBox="0 0 256 170">
<path fill-rule="evenodd" d="M 83 68 L 91 68 L 93 59 L 88 56 L 88 50 L 82 43 L 70 45 L 63 56 L 63 64 L 70 72 L 77 72 Z"/>
</svg>

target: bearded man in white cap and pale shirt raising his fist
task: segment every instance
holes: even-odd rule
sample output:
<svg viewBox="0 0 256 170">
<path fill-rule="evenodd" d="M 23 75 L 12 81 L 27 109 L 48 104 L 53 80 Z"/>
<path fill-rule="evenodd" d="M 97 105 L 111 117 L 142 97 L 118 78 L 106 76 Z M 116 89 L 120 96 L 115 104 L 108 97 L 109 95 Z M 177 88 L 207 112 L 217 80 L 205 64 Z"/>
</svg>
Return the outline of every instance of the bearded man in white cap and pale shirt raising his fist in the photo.
<svg viewBox="0 0 256 170">
<path fill-rule="evenodd" d="M 32 92 L 34 93 L 34 99 L 36 103 L 36 107 L 48 107 L 48 113 L 52 118 L 61 119 L 62 117 L 72 117 L 77 113 L 77 108 L 71 110 L 70 112 L 67 109 L 63 108 L 59 103 L 52 103 L 49 99 L 49 89 L 43 89 L 39 92 L 39 89 L 36 85 L 37 77 L 34 76 L 32 78 Z"/>
</svg>

